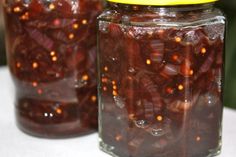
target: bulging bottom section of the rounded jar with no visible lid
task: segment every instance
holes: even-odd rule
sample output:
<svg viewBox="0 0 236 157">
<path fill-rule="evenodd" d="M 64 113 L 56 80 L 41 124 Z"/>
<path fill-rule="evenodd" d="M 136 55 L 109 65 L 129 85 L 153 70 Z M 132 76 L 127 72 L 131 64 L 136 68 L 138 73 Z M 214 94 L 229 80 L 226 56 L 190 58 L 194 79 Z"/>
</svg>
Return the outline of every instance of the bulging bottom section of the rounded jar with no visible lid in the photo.
<svg viewBox="0 0 236 157">
<path fill-rule="evenodd" d="M 18 128 L 41 138 L 71 138 L 97 131 L 97 117 L 78 103 L 20 99 L 15 105 Z M 96 112 L 92 109 L 90 113 Z M 94 114 L 96 115 L 96 114 Z"/>
</svg>

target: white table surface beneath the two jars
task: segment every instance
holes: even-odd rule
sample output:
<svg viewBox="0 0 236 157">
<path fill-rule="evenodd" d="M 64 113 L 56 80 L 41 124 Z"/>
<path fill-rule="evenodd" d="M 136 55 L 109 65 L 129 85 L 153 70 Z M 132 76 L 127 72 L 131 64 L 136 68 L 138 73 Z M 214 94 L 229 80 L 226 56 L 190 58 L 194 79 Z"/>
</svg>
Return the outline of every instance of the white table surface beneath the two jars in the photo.
<svg viewBox="0 0 236 157">
<path fill-rule="evenodd" d="M 109 157 L 98 148 L 98 135 L 51 140 L 28 136 L 14 120 L 14 88 L 6 67 L 0 68 L 0 157 Z M 225 108 L 220 157 L 236 156 L 236 111 Z"/>
</svg>

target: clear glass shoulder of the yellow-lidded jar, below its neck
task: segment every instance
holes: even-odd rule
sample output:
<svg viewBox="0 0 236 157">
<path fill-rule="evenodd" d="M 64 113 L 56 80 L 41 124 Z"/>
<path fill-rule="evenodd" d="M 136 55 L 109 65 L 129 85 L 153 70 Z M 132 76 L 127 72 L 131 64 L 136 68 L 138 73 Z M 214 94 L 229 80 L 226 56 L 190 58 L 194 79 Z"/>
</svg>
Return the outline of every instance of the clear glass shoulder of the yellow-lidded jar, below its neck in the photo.
<svg viewBox="0 0 236 157">
<path fill-rule="evenodd" d="M 210 23 L 225 24 L 227 19 L 224 13 L 217 8 L 205 11 L 166 12 L 139 11 L 122 12 L 107 9 L 98 17 L 99 21 L 106 21 L 130 26 L 198 26 Z"/>
</svg>

